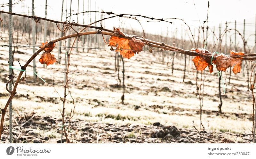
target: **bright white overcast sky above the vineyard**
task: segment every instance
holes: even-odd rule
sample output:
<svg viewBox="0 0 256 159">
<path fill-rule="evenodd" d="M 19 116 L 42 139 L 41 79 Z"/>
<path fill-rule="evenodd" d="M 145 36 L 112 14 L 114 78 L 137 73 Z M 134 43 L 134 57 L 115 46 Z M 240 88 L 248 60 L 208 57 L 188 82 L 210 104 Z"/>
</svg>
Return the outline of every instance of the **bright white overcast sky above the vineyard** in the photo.
<svg viewBox="0 0 256 159">
<path fill-rule="evenodd" d="M 18 0 L 13 0 L 17 2 Z M 79 12 L 88 10 L 88 0 L 79 1 Z M 0 0 L 0 3 L 8 3 L 9 0 Z M 68 10 L 70 7 L 70 0 L 64 0 L 64 17 L 66 17 L 66 7 L 68 3 Z M 96 7 L 95 7 L 96 3 Z M 78 0 L 72 0 L 72 13 L 77 12 Z M 200 26 L 198 20 L 205 20 L 207 15 L 207 0 L 89 0 L 89 10 L 104 10 L 113 11 L 114 13 L 124 14 L 141 14 L 154 18 L 183 18 L 188 25 L 191 26 L 192 32 L 197 33 L 197 28 Z M 195 5 L 194 5 L 195 4 Z M 44 17 L 45 14 L 45 0 L 35 0 L 35 15 Z M 61 5 L 62 0 L 48 0 L 47 18 L 60 21 L 61 17 Z M 12 12 L 31 15 L 32 0 L 25 0 L 20 4 L 14 5 Z M 90 7 L 91 6 L 91 7 Z M 209 8 L 209 27 L 215 26 L 215 31 L 219 30 L 219 24 L 221 23 L 222 30 L 225 27 L 225 22 L 238 22 L 237 29 L 243 32 L 243 22 L 245 19 L 246 29 L 245 37 L 249 37 L 255 33 L 255 14 L 256 14 L 256 0 L 210 0 Z M 28 8 L 29 7 L 29 8 Z M 8 6 L 0 8 L 1 10 L 8 11 Z M 68 11 L 69 13 L 69 11 Z M 92 13 L 92 21 L 95 19 L 95 14 Z M 97 14 L 97 19 L 100 19 L 100 15 Z M 87 24 L 87 14 L 85 14 L 85 24 Z M 140 18 L 141 19 L 141 18 Z M 64 18 L 64 20 L 66 20 Z M 63 21 L 64 21 L 63 20 Z M 71 17 L 71 21 L 77 21 L 77 16 Z M 142 19 L 144 20 L 144 19 Z M 83 15 L 79 15 L 79 24 L 83 23 Z M 178 20 L 172 20 L 173 24 L 165 22 L 141 22 L 144 30 L 153 34 L 166 35 L 167 27 L 169 31 L 168 35 L 172 34 L 176 28 L 178 28 L 178 37 L 181 29 L 187 29 L 182 26 L 183 23 Z M 98 24 L 99 25 L 99 24 Z M 112 29 L 113 26 L 122 26 L 126 28 L 133 28 L 134 30 L 141 30 L 141 26 L 135 20 L 113 18 L 104 22 L 104 27 Z M 234 28 L 234 23 L 229 24 L 230 28 Z M 196 28 L 196 29 L 194 29 Z M 183 33 L 185 33 L 183 31 Z M 234 36 L 234 35 L 232 35 Z M 237 36 L 238 37 L 238 36 Z M 248 42 L 250 45 L 254 45 L 254 36 L 251 36 Z"/>
</svg>

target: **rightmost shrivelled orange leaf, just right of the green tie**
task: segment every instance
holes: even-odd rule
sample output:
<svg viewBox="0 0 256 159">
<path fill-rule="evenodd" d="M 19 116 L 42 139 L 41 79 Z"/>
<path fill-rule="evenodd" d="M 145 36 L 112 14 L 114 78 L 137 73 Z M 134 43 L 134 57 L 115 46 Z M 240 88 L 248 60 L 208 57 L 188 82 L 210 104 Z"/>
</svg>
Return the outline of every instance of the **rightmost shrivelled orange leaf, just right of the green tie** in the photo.
<svg viewBox="0 0 256 159">
<path fill-rule="evenodd" d="M 235 52 L 235 51 L 230 51 L 230 55 L 243 55 L 244 53 L 242 52 Z M 228 55 L 225 54 L 219 54 L 215 57 L 216 59 L 216 68 L 219 71 L 226 71 L 229 67 L 234 66 L 232 71 L 234 74 L 239 73 L 241 71 L 241 63 L 242 63 L 242 58 L 243 57 L 229 57 Z"/>
</svg>

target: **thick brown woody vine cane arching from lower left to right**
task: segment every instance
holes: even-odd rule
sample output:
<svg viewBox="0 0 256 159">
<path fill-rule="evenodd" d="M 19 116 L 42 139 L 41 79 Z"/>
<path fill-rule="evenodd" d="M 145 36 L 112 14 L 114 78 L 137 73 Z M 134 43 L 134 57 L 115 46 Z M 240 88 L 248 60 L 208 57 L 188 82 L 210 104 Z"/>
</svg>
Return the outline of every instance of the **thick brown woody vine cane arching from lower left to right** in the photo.
<svg viewBox="0 0 256 159">
<path fill-rule="evenodd" d="M 35 19 L 36 20 L 36 19 Z M 76 26 L 75 24 L 73 23 L 68 23 L 68 25 L 74 25 Z M 156 42 L 156 41 L 153 41 L 153 40 L 148 40 L 148 39 L 145 39 L 144 37 L 141 37 L 141 36 L 131 36 L 131 35 L 128 35 L 128 36 L 123 36 L 121 34 L 118 34 L 118 33 L 114 33 L 112 30 L 108 30 L 108 29 L 104 29 L 103 27 L 95 27 L 95 29 L 100 29 L 98 31 L 90 31 L 90 32 L 76 32 L 74 34 L 70 34 L 70 35 L 66 35 L 66 36 L 63 36 L 63 37 L 60 37 L 60 38 L 57 38 L 55 40 L 52 40 L 50 41 L 48 44 L 44 45 L 43 47 L 39 48 L 33 55 L 31 55 L 31 57 L 28 59 L 28 61 L 23 65 L 21 66 L 21 69 L 22 71 L 20 71 L 17 79 L 16 79 L 16 82 L 15 82 L 15 85 L 13 87 L 12 90 L 10 90 L 10 96 L 4 106 L 3 109 L 1 109 L 2 111 L 2 116 L 1 116 L 1 122 L 0 122 L 0 139 L 1 139 L 1 136 L 2 136 L 2 133 L 4 131 L 4 116 L 5 116 L 5 113 L 6 113 L 6 110 L 8 108 L 8 105 L 10 103 L 10 101 L 12 100 L 12 98 L 15 96 L 15 94 L 17 93 L 16 92 L 16 89 L 17 89 L 17 86 L 20 82 L 20 80 L 22 80 L 21 76 L 24 72 L 24 70 L 26 70 L 27 66 L 29 65 L 29 63 L 34 59 L 36 58 L 36 56 L 42 51 L 44 50 L 44 48 L 52 45 L 53 43 L 56 43 L 58 41 L 61 41 L 61 40 L 65 40 L 65 39 L 68 39 L 68 38 L 73 38 L 73 37 L 79 37 L 79 36 L 84 36 L 84 35 L 91 35 L 91 34 L 101 34 L 102 36 L 103 35 L 108 35 L 108 36 L 115 36 L 115 37 L 119 37 L 119 38 L 123 38 L 123 39 L 128 39 L 128 40 L 131 40 L 131 37 L 133 38 L 136 38 L 136 39 L 139 39 L 143 42 L 145 42 L 145 45 L 148 45 L 150 47 L 149 49 L 149 52 L 151 53 L 152 51 L 154 51 L 151 47 L 156 47 L 156 48 L 160 48 L 163 52 L 168 50 L 168 51 L 174 51 L 174 52 L 179 52 L 181 54 L 185 54 L 185 55 L 190 55 L 190 56 L 203 56 L 203 57 L 208 57 L 208 58 L 211 58 L 216 56 L 215 55 L 212 55 L 212 53 L 206 53 L 205 55 L 203 54 L 199 54 L 199 53 L 196 53 L 196 52 L 193 52 L 193 51 L 189 51 L 189 50 L 184 50 L 184 49 L 181 49 L 181 48 L 178 48 L 178 47 L 174 47 L 172 45 L 167 45 L 165 43 L 161 43 L 161 42 Z M 103 31 L 104 30 L 104 31 Z M 112 48 L 112 47 L 111 47 Z M 112 49 L 113 50 L 113 49 Z M 242 58 L 242 60 L 255 60 L 256 57 L 253 57 L 253 56 L 256 56 L 256 54 L 244 54 L 244 55 L 229 55 L 230 57 L 233 57 L 233 58 Z M 250 57 L 252 56 L 252 57 Z M 68 75 L 66 75 L 68 76 Z M 8 83 L 7 83 L 8 84 Z"/>
</svg>

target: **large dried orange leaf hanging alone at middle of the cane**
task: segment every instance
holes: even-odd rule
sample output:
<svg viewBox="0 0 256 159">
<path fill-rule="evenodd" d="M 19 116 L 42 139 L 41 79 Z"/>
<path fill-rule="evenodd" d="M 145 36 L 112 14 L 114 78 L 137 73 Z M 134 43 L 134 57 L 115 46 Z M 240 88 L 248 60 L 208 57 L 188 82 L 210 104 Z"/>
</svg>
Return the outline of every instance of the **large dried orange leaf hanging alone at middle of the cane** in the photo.
<svg viewBox="0 0 256 159">
<path fill-rule="evenodd" d="M 145 42 L 141 41 L 140 39 L 136 39 L 133 36 L 128 36 L 121 32 L 119 28 L 114 28 L 115 33 L 127 37 L 128 39 L 119 38 L 115 36 L 111 36 L 109 41 L 110 46 L 116 46 L 116 51 L 120 52 L 124 58 L 130 59 L 134 54 L 139 54 L 142 51 L 142 47 L 144 46 Z"/>
</svg>

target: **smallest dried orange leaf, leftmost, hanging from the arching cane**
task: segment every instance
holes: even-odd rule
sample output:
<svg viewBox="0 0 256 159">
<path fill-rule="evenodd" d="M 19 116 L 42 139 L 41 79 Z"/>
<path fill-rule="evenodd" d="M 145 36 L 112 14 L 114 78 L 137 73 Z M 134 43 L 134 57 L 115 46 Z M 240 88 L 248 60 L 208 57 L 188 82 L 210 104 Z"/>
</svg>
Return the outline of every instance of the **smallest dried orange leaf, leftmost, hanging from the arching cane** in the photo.
<svg viewBox="0 0 256 159">
<path fill-rule="evenodd" d="M 44 45 L 47 44 L 47 41 L 45 43 L 42 43 L 42 46 L 39 48 L 42 48 Z M 39 59 L 39 62 L 41 64 L 46 64 L 47 66 L 50 64 L 53 64 L 54 62 L 58 62 L 57 59 L 54 57 L 53 54 L 51 54 L 52 49 L 54 48 L 54 43 L 52 45 L 48 45 L 44 48 L 44 53 L 41 54 L 41 57 Z"/>
</svg>

